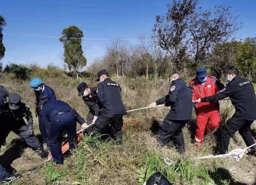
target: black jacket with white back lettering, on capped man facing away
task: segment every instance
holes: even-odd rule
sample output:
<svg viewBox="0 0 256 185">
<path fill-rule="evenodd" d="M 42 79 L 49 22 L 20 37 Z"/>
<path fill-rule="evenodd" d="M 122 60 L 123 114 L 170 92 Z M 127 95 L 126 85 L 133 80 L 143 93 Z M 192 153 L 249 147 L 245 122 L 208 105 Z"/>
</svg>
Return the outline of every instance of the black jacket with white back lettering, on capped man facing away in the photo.
<svg viewBox="0 0 256 185">
<path fill-rule="evenodd" d="M 98 101 L 102 113 L 127 114 L 122 102 L 121 87 L 109 78 L 98 84 Z"/>
</svg>

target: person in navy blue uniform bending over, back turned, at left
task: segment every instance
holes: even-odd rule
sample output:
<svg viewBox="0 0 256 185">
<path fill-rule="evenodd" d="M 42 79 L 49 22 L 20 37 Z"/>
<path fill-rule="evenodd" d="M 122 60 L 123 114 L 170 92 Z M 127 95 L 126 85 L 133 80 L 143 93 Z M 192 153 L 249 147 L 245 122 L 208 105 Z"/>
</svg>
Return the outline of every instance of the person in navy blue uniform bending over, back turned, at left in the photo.
<svg viewBox="0 0 256 185">
<path fill-rule="evenodd" d="M 82 128 L 87 128 L 87 124 L 74 108 L 63 101 L 53 100 L 42 102 L 42 105 L 40 106 L 42 109 L 40 110 L 39 117 L 45 124 L 52 158 L 57 164 L 63 164 L 64 158 L 60 144 L 62 132 L 66 130 L 68 134 L 69 148 L 74 149 L 77 140 L 76 122 L 78 121 Z"/>
</svg>

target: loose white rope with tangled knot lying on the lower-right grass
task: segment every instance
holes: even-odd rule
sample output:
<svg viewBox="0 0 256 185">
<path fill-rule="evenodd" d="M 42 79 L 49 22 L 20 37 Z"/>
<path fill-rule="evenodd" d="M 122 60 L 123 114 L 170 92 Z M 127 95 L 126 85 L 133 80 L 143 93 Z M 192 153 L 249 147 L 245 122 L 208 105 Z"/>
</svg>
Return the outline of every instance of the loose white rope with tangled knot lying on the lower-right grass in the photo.
<svg viewBox="0 0 256 185">
<path fill-rule="evenodd" d="M 230 157 L 230 158 L 234 158 L 236 159 L 236 161 L 240 161 L 242 159 L 242 157 L 248 153 L 248 149 L 252 148 L 253 146 L 256 146 L 256 143 L 247 147 L 247 148 L 236 148 L 234 150 L 232 150 L 231 152 L 229 152 L 228 154 L 221 154 L 221 155 L 206 155 L 204 157 L 195 157 L 192 159 L 195 160 L 202 160 L 202 159 L 214 159 L 214 158 L 226 158 L 226 157 Z M 170 166 L 172 165 L 173 161 L 170 160 L 169 158 L 164 158 L 164 162 Z"/>
</svg>

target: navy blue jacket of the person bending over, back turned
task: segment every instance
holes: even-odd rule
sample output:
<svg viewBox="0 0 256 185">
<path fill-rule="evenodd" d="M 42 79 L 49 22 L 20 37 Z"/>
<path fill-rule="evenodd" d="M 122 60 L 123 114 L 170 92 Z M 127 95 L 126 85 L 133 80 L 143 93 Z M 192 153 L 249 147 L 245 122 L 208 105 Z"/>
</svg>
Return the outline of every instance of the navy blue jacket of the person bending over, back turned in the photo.
<svg viewBox="0 0 256 185">
<path fill-rule="evenodd" d="M 51 120 L 54 120 L 58 112 L 75 112 L 77 121 L 82 125 L 84 123 L 84 118 L 82 118 L 69 104 L 60 101 L 53 100 L 44 103 L 40 113 L 39 119 L 44 123 L 48 124 Z"/>
</svg>

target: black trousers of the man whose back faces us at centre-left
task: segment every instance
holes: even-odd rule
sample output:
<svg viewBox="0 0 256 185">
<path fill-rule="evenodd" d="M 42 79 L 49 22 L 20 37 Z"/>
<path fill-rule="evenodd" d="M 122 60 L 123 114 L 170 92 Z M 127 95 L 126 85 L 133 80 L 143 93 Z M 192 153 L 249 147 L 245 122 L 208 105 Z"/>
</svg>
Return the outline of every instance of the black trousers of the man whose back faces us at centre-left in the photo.
<svg viewBox="0 0 256 185">
<path fill-rule="evenodd" d="M 109 125 L 111 125 L 111 133 L 113 134 L 114 138 L 119 141 L 119 144 L 121 144 L 123 115 L 100 114 L 93 128 L 93 132 L 95 133 L 94 136 L 104 134 Z"/>
</svg>

